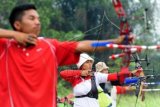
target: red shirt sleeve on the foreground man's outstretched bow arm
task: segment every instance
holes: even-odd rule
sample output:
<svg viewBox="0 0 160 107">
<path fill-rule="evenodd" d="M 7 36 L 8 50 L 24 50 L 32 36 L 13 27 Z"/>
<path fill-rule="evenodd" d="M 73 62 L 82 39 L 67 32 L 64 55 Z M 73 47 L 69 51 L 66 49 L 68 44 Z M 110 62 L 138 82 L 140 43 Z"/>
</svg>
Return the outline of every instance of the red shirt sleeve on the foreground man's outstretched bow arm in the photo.
<svg viewBox="0 0 160 107">
<path fill-rule="evenodd" d="M 80 56 L 80 53 L 76 52 L 78 42 L 59 42 L 57 40 L 54 40 L 52 43 L 56 47 L 56 57 L 58 65 L 71 65 L 78 62 Z"/>
</svg>

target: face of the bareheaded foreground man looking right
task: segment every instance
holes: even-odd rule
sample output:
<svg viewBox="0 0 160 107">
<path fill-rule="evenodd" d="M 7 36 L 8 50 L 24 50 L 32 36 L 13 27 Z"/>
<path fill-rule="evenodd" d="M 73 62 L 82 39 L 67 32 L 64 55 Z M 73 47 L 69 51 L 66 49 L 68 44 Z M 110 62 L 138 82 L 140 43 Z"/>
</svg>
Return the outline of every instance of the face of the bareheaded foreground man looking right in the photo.
<svg viewBox="0 0 160 107">
<path fill-rule="evenodd" d="M 39 15 L 36 10 L 26 10 L 20 21 L 14 23 L 18 31 L 39 35 L 41 30 L 41 24 L 39 20 Z"/>
</svg>

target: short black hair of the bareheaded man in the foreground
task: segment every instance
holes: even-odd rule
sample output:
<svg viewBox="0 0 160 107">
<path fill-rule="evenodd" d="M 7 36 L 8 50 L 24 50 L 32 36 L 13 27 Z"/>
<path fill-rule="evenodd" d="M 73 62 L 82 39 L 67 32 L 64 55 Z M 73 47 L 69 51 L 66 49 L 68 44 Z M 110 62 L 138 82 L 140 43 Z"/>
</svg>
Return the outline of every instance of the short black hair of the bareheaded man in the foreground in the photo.
<svg viewBox="0 0 160 107">
<path fill-rule="evenodd" d="M 22 4 L 12 9 L 9 16 L 9 22 L 14 30 L 16 30 L 16 28 L 14 27 L 14 22 L 17 20 L 21 20 L 24 14 L 24 11 L 30 10 L 30 9 L 37 10 L 34 4 Z"/>
</svg>

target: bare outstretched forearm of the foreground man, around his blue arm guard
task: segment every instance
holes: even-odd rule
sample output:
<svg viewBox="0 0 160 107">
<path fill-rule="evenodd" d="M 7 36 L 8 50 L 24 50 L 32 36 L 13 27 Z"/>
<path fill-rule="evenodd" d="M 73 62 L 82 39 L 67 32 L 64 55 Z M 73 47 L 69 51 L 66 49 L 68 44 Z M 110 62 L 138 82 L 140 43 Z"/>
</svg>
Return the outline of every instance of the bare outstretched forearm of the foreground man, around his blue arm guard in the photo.
<svg viewBox="0 0 160 107">
<path fill-rule="evenodd" d="M 91 41 L 91 40 L 85 40 L 85 41 L 80 41 L 78 43 L 78 46 L 76 48 L 77 52 L 94 52 L 94 51 L 103 51 L 106 50 L 106 47 L 92 47 L 92 44 L 94 42 L 112 42 L 112 43 L 120 43 L 119 39 L 109 39 L 109 40 L 100 40 L 100 41 Z"/>
</svg>

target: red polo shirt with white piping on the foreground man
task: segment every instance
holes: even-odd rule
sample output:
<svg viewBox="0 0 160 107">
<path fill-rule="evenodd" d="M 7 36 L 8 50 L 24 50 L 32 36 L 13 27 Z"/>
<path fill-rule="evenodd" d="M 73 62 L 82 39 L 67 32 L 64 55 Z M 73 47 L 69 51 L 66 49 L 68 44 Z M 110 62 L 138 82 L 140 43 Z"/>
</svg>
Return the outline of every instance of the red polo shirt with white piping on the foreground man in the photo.
<svg viewBox="0 0 160 107">
<path fill-rule="evenodd" d="M 26 48 L 0 39 L 0 107 L 56 107 L 57 68 L 78 62 L 77 44 L 38 38 Z"/>
</svg>

